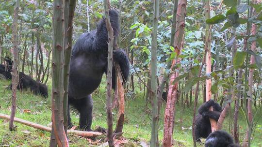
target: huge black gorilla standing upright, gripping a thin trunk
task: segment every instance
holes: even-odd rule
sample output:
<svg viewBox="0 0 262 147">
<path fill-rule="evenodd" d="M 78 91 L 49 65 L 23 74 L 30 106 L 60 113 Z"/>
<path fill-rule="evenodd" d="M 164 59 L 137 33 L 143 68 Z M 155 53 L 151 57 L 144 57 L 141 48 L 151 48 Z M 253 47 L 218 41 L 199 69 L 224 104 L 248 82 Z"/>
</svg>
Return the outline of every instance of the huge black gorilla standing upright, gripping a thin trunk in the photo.
<svg viewBox="0 0 262 147">
<path fill-rule="evenodd" d="M 109 11 L 115 38 L 118 36 L 118 12 Z M 69 72 L 68 128 L 72 127 L 69 104 L 80 113 L 80 129 L 91 130 L 93 100 L 91 93 L 100 85 L 103 73 L 107 73 L 108 32 L 105 19 L 97 24 L 97 29 L 83 33 L 72 50 Z M 125 81 L 129 76 L 129 59 L 124 51 L 114 50 L 113 60 L 119 63 Z M 113 88 L 115 88 L 113 66 Z"/>
</svg>

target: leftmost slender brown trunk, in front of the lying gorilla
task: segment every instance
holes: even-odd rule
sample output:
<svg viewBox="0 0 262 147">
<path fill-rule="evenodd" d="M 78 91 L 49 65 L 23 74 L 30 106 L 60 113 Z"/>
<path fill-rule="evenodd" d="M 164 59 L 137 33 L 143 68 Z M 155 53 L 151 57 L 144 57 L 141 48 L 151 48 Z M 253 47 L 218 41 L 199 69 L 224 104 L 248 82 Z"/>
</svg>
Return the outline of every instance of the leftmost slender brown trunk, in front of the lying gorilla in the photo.
<svg viewBox="0 0 262 147">
<path fill-rule="evenodd" d="M 14 127 L 14 118 L 16 115 L 16 85 L 17 85 L 17 66 L 18 66 L 18 40 L 17 40 L 17 19 L 18 19 L 18 11 L 19 11 L 19 3 L 20 0 L 16 0 L 16 7 L 14 9 L 14 20 L 13 20 L 13 45 L 14 45 L 14 65 L 13 65 L 13 77 L 12 77 L 12 106 L 11 106 L 11 116 L 9 121 L 9 130 L 13 131 Z"/>
</svg>

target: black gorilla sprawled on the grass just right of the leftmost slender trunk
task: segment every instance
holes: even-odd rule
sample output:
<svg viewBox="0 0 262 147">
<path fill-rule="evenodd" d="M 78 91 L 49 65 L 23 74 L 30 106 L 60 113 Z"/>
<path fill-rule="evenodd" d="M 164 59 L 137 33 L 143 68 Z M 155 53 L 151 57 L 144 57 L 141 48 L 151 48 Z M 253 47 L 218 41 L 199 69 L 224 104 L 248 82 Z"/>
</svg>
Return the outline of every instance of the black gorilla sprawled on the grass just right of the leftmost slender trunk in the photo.
<svg viewBox="0 0 262 147">
<path fill-rule="evenodd" d="M 20 72 L 17 89 L 23 90 L 27 88 L 30 88 L 35 95 L 39 94 L 43 97 L 48 97 L 48 88 L 45 84 L 41 84 L 25 73 Z M 9 89 L 12 89 L 12 84 L 9 86 Z"/>
</svg>

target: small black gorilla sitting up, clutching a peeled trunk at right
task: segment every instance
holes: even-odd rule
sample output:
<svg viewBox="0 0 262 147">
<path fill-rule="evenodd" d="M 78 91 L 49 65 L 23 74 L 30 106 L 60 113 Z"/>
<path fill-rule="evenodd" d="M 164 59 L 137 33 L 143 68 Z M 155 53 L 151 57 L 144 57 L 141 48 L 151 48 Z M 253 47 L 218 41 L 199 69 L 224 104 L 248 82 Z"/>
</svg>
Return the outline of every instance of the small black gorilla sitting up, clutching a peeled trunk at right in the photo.
<svg viewBox="0 0 262 147">
<path fill-rule="evenodd" d="M 209 110 L 211 106 L 213 106 L 213 111 Z M 208 135 L 212 132 L 209 118 L 212 118 L 217 122 L 221 112 L 222 112 L 221 106 L 218 103 L 215 103 L 213 100 L 203 103 L 198 108 L 198 115 L 195 121 L 196 141 L 201 142 L 200 140 L 201 137 L 203 138 L 208 137 Z"/>
</svg>

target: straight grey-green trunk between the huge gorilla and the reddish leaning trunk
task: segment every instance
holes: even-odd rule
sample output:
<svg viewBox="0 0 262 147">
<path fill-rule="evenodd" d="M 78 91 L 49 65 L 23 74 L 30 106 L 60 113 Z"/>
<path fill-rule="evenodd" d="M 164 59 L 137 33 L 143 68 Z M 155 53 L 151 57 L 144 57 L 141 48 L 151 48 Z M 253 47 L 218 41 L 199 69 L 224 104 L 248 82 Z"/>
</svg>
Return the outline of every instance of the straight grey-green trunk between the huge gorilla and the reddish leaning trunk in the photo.
<svg viewBox="0 0 262 147">
<path fill-rule="evenodd" d="M 152 103 L 152 125 L 151 125 L 151 139 L 150 147 L 158 147 L 158 98 L 157 98 L 157 32 L 158 32 L 158 18 L 159 18 L 159 0 L 154 0 L 154 16 L 152 29 L 152 49 L 151 49 L 151 87 L 150 100 Z"/>
</svg>

